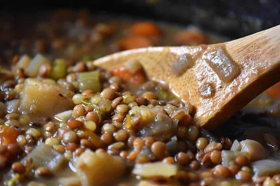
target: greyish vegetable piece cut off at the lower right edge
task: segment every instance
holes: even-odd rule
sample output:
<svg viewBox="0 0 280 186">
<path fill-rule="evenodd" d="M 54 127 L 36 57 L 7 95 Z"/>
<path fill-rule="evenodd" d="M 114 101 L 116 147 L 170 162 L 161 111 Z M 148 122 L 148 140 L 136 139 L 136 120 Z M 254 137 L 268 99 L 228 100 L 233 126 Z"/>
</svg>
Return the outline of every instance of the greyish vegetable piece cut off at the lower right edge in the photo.
<svg viewBox="0 0 280 186">
<path fill-rule="evenodd" d="M 280 173 L 280 161 L 279 160 L 259 160 L 252 163 L 252 169 L 254 171 L 253 179 L 259 176 L 272 176 Z"/>
</svg>

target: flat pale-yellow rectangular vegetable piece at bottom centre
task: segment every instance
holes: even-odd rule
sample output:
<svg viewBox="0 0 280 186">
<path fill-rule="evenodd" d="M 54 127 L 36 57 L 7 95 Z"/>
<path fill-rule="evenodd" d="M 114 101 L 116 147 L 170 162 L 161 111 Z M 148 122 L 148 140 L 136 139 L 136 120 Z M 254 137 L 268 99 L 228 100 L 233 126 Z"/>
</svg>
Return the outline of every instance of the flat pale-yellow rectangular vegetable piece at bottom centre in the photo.
<svg viewBox="0 0 280 186">
<path fill-rule="evenodd" d="M 178 167 L 175 164 L 168 164 L 163 162 L 153 162 L 136 164 L 132 171 L 133 174 L 139 175 L 144 178 L 153 176 L 170 177 L 177 174 Z"/>
</svg>

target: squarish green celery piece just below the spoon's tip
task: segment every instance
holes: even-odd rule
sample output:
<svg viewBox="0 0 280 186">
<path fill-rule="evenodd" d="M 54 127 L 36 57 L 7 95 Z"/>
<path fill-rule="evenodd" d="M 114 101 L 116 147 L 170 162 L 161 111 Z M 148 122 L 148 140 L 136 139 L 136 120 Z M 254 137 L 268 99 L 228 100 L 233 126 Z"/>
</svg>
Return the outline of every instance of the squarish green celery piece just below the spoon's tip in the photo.
<svg viewBox="0 0 280 186">
<path fill-rule="evenodd" d="M 79 90 L 92 90 L 94 93 L 100 92 L 100 74 L 97 71 L 78 73 Z"/>
</svg>

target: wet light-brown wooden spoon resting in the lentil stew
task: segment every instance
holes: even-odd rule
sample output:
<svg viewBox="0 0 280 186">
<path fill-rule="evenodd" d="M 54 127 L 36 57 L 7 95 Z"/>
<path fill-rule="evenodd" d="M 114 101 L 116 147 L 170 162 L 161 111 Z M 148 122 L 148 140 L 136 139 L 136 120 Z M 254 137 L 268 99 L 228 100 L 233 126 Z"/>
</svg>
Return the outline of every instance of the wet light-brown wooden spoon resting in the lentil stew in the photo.
<svg viewBox="0 0 280 186">
<path fill-rule="evenodd" d="M 223 64 L 220 61 L 221 66 L 216 68 L 215 58 L 218 62 L 221 58 L 215 56 L 219 47 L 230 62 Z M 183 54 L 194 64 L 181 76 L 176 76 L 171 67 Z M 95 65 L 113 70 L 129 60 L 140 62 L 149 79 L 167 84 L 182 101 L 192 103 L 195 108 L 193 118 L 197 124 L 215 128 L 280 81 L 280 25 L 220 44 L 122 51 L 95 60 Z M 232 69 L 233 76 L 230 74 Z M 229 74 L 223 74 L 221 70 Z M 199 87 L 204 84 L 213 88 L 212 97 L 202 96 Z"/>
</svg>

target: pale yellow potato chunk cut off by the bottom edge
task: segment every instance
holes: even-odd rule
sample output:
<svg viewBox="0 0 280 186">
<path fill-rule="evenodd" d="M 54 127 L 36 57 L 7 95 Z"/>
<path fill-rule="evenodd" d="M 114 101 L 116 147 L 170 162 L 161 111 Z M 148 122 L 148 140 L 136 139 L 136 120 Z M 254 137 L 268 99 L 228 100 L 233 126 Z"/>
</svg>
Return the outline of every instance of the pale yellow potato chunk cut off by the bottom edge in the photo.
<svg viewBox="0 0 280 186">
<path fill-rule="evenodd" d="M 82 185 L 112 185 L 125 173 L 125 163 L 106 152 L 86 150 L 76 161 Z"/>
</svg>

